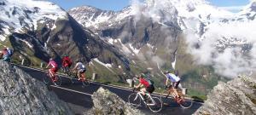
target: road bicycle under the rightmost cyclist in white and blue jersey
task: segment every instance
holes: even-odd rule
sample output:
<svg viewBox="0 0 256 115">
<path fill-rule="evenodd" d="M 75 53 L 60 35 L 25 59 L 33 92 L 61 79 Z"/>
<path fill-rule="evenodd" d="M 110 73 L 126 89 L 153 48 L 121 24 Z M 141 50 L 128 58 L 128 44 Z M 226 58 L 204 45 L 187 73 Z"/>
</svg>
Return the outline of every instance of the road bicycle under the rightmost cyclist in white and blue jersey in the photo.
<svg viewBox="0 0 256 115">
<path fill-rule="evenodd" d="M 170 85 L 166 90 L 164 90 L 160 95 L 160 100 L 163 102 L 172 100 L 176 101 L 178 105 L 182 106 L 183 108 L 189 108 L 193 105 L 193 101 L 186 100 L 183 93 L 181 91 L 177 91 L 180 98 L 176 98 L 174 90 L 172 89 L 172 85 Z"/>
</svg>

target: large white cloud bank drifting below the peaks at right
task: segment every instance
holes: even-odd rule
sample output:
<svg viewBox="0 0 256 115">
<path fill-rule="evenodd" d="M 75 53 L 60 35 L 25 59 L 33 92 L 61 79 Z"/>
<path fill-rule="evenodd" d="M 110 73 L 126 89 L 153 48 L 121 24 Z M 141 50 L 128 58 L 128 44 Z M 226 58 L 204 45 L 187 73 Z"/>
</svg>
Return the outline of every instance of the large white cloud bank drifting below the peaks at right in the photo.
<svg viewBox="0 0 256 115">
<path fill-rule="evenodd" d="M 225 77 L 234 78 L 256 71 L 256 33 L 252 31 L 255 26 L 254 22 L 212 24 L 203 35 L 204 39 L 197 41 L 199 48 L 195 47 L 199 37 L 188 32 L 188 52 L 194 55 L 196 62 L 213 66 L 215 72 Z"/>
</svg>

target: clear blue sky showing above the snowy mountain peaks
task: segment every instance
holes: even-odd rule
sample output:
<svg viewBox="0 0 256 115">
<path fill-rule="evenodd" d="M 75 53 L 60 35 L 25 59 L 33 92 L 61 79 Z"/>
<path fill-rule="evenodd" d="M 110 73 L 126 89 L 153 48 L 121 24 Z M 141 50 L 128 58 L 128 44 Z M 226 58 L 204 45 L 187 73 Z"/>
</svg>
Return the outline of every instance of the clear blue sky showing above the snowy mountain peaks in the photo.
<svg viewBox="0 0 256 115">
<path fill-rule="evenodd" d="M 90 5 L 104 10 L 121 10 L 130 4 L 130 0 L 49 0 L 63 9 L 71 9 L 83 5 Z M 208 0 L 215 6 L 236 12 L 241 6 L 247 5 L 249 0 Z"/>
</svg>

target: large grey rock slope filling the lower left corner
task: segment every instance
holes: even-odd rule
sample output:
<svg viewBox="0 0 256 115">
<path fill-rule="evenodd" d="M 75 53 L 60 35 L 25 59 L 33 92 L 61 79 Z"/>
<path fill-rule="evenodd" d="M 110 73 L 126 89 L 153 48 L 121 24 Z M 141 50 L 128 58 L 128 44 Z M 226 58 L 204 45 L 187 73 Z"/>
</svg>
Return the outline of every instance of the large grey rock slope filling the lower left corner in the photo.
<svg viewBox="0 0 256 115">
<path fill-rule="evenodd" d="M 44 83 L 0 61 L 0 114 L 73 114 Z"/>
</svg>

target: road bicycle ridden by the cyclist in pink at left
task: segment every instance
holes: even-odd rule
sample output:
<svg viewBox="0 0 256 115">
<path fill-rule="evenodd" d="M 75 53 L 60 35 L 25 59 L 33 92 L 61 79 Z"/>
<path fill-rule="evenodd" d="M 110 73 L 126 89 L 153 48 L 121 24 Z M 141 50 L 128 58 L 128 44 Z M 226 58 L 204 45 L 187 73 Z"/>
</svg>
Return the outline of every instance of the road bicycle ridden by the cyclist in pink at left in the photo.
<svg viewBox="0 0 256 115">
<path fill-rule="evenodd" d="M 53 78 L 50 77 L 49 72 L 46 72 L 43 76 L 44 83 L 49 84 L 54 83 L 55 86 L 61 86 L 61 78 L 58 75 L 55 75 Z"/>
</svg>

